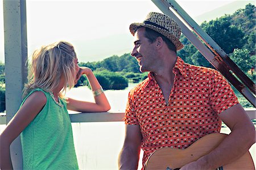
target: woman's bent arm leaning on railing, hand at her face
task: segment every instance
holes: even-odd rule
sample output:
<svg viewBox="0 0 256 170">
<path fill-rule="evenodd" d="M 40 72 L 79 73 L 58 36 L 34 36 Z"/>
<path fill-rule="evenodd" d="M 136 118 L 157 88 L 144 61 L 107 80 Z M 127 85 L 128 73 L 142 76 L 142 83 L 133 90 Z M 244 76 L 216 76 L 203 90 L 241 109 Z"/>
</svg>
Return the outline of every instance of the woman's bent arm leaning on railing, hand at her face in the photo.
<svg viewBox="0 0 256 170">
<path fill-rule="evenodd" d="M 108 99 L 106 98 L 104 92 L 101 93 L 101 85 L 98 82 L 97 78 L 94 76 L 92 70 L 87 67 L 81 67 L 78 79 L 82 74 L 85 74 L 88 78 L 90 87 L 93 92 L 100 92 L 98 95 L 94 95 L 95 103 L 93 102 L 85 102 L 79 101 L 72 98 L 67 98 L 67 109 L 81 112 L 102 112 L 108 111 L 110 109 L 110 105 Z"/>
</svg>

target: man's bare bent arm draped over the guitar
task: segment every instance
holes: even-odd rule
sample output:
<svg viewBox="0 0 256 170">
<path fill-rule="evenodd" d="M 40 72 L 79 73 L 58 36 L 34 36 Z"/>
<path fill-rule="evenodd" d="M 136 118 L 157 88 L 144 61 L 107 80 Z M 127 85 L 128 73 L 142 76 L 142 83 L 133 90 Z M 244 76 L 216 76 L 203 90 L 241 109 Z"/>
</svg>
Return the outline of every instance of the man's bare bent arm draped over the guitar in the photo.
<svg viewBox="0 0 256 170">
<path fill-rule="evenodd" d="M 231 133 L 215 150 L 180 170 L 216 169 L 237 160 L 255 143 L 254 125 L 240 104 L 222 111 L 219 117 L 230 128 Z"/>
</svg>

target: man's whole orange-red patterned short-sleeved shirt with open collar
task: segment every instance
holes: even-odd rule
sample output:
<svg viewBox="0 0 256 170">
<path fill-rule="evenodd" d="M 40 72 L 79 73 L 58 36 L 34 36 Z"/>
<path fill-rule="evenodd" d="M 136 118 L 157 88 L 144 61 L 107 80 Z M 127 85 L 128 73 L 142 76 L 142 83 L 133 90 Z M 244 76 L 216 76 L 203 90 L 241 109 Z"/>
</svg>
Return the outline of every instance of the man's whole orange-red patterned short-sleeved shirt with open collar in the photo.
<svg viewBox="0 0 256 170">
<path fill-rule="evenodd" d="M 159 148 L 187 148 L 204 135 L 220 132 L 218 114 L 238 103 L 229 83 L 213 69 L 177 57 L 173 72 L 168 105 L 153 73 L 129 93 L 124 121 L 141 128 L 143 165 Z"/>
</svg>

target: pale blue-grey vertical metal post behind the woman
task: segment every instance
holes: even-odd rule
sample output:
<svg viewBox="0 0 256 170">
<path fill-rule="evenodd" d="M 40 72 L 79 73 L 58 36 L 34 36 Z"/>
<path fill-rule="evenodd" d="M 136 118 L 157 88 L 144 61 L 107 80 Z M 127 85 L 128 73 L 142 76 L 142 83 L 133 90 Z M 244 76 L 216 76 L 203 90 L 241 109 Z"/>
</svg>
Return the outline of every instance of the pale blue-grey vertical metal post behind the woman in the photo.
<svg viewBox="0 0 256 170">
<path fill-rule="evenodd" d="M 22 89 L 27 81 L 27 20 L 26 1 L 3 1 L 5 32 L 6 123 L 15 115 L 22 102 Z M 11 144 L 14 169 L 22 169 L 20 137 Z"/>
</svg>

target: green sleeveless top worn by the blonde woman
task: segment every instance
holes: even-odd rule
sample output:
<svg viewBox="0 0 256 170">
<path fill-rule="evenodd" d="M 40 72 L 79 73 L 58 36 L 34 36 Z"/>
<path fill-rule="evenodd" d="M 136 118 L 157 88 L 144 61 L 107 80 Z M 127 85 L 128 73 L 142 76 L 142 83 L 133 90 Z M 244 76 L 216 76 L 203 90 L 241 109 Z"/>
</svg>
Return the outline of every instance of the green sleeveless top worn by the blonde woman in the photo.
<svg viewBox="0 0 256 170">
<path fill-rule="evenodd" d="M 34 89 L 28 96 L 35 91 L 43 92 L 47 102 L 20 134 L 23 169 L 79 169 L 67 103 L 60 99 L 63 107 L 57 105 L 42 89 Z"/>
</svg>

